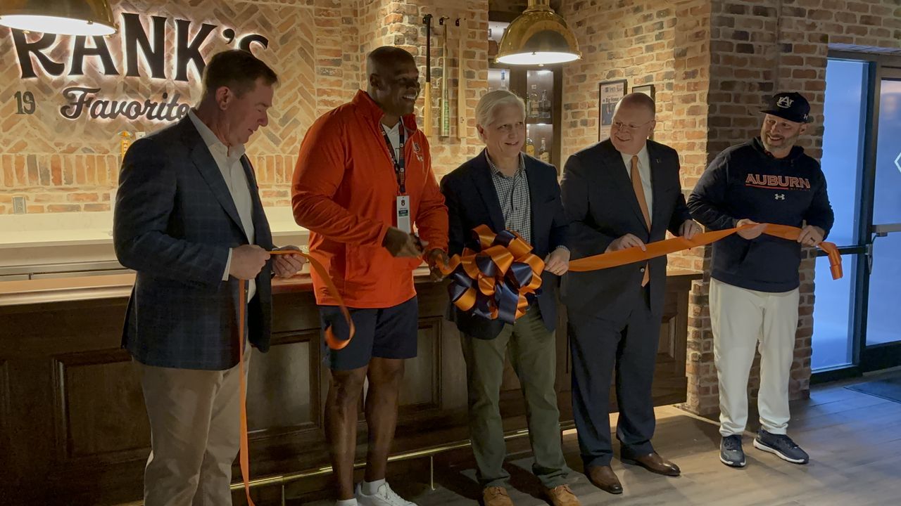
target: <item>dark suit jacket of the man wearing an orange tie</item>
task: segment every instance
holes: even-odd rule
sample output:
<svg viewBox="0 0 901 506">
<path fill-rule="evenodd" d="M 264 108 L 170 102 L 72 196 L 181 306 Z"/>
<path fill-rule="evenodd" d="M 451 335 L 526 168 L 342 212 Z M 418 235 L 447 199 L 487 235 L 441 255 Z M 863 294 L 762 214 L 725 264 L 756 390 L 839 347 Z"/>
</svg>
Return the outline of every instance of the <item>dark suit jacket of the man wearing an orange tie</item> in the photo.
<svg viewBox="0 0 901 506">
<path fill-rule="evenodd" d="M 561 183 L 563 209 L 569 221 L 569 249 L 572 259 L 605 252 L 614 239 L 627 233 L 645 243 L 665 239 L 667 230 L 678 235 L 679 227 L 690 219 L 679 182 L 678 153 L 648 140 L 653 194 L 651 230 L 635 197 L 623 156 L 608 139 L 569 157 Z M 571 311 L 594 312 L 602 318 L 619 320 L 631 311 L 633 298 L 623 296 L 642 285 L 644 262 L 590 272 L 569 272 L 563 276 L 561 295 Z M 651 313 L 663 310 L 666 292 L 667 258 L 651 260 Z"/>
</svg>

